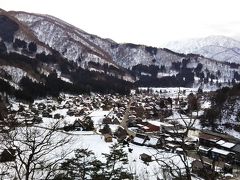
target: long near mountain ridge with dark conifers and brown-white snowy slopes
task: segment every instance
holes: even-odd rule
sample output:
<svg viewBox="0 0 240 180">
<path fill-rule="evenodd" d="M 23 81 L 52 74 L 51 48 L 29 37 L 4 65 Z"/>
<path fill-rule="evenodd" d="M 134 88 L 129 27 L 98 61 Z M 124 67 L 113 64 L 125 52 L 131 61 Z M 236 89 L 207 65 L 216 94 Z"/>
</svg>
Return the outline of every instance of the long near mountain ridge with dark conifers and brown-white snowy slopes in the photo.
<svg viewBox="0 0 240 180">
<path fill-rule="evenodd" d="M 222 43 L 219 46 L 229 44 Z M 231 46 L 237 46 L 237 41 Z M 49 15 L 0 10 L 0 77 L 19 91 L 31 87 L 28 79 L 52 92 L 56 88 L 126 93 L 134 86 L 221 86 L 238 81 L 239 73 L 237 64 L 119 44 Z M 52 87 L 52 81 L 58 85 Z"/>
</svg>

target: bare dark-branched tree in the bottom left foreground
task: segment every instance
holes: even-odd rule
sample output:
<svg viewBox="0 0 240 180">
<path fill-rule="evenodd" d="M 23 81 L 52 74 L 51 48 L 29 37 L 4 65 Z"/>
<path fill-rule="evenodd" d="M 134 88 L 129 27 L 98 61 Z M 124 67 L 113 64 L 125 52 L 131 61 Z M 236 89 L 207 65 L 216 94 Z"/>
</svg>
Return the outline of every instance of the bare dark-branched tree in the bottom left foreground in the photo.
<svg viewBox="0 0 240 180">
<path fill-rule="evenodd" d="M 5 135 L 5 148 L 16 150 L 11 164 L 18 179 L 49 179 L 58 169 L 59 162 L 71 152 L 62 148 L 71 138 L 57 129 L 57 123 L 49 128 L 18 127 Z"/>
</svg>

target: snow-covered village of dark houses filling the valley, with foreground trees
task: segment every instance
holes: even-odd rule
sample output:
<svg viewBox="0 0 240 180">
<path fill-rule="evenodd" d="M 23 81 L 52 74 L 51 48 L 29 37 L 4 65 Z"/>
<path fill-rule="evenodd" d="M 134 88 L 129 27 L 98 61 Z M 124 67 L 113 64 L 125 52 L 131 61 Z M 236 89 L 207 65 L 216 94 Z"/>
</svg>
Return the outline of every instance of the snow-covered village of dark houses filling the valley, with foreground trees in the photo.
<svg viewBox="0 0 240 180">
<path fill-rule="evenodd" d="M 204 127 L 208 93 L 139 88 L 129 96 L 60 94 L 32 104 L 10 100 L 11 121 L 0 126 L 0 174 L 3 179 L 26 174 L 65 179 L 75 171 L 80 179 L 237 177 L 240 134 Z"/>
</svg>

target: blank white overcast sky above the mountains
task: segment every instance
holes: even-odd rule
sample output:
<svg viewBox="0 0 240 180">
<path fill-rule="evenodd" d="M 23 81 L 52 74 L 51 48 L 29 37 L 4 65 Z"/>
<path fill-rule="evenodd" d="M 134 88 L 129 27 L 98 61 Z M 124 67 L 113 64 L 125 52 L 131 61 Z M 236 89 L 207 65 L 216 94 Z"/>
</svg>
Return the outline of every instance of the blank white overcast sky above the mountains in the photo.
<svg viewBox="0 0 240 180">
<path fill-rule="evenodd" d="M 239 0 L 0 0 L 0 8 L 50 14 L 120 43 L 240 37 Z"/>
</svg>

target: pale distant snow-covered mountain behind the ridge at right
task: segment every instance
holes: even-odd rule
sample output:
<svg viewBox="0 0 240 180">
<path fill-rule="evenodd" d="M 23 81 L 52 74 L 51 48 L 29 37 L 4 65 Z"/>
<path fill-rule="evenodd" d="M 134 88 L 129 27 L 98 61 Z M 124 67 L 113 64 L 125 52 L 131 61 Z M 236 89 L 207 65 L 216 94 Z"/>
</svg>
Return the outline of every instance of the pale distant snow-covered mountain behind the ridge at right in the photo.
<svg viewBox="0 0 240 180">
<path fill-rule="evenodd" d="M 225 36 L 169 42 L 166 47 L 176 52 L 201 54 L 217 61 L 240 63 L 240 41 Z"/>
</svg>

